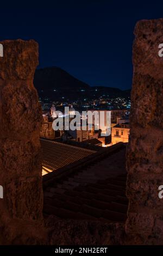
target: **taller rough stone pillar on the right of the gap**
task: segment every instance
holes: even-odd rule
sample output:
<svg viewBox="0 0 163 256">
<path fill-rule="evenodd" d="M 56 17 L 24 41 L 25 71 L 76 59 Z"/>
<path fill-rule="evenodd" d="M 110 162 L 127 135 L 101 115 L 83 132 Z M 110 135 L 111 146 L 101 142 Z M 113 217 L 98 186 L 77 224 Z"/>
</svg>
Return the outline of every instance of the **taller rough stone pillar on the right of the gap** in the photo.
<svg viewBox="0 0 163 256">
<path fill-rule="evenodd" d="M 135 27 L 134 77 L 127 148 L 126 233 L 134 244 L 163 244 L 163 19 Z"/>
</svg>

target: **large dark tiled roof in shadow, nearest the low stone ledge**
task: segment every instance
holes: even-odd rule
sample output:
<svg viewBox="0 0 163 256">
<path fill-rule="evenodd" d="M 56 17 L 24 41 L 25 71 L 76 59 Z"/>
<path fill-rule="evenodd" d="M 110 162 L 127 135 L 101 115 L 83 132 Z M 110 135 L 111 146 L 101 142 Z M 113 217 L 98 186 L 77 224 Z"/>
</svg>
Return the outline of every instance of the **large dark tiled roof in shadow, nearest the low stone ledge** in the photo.
<svg viewBox="0 0 163 256">
<path fill-rule="evenodd" d="M 124 222 L 127 218 L 126 149 L 44 188 L 46 216 L 73 220 Z M 47 174 L 48 175 L 48 174 Z"/>
</svg>

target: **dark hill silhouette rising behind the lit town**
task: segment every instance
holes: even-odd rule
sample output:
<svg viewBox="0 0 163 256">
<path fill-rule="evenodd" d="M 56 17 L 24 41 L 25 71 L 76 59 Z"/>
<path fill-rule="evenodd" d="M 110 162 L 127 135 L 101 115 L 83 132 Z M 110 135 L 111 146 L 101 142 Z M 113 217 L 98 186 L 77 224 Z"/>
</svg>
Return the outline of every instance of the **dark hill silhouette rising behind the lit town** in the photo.
<svg viewBox="0 0 163 256">
<path fill-rule="evenodd" d="M 99 96 L 130 96 L 130 90 L 96 86 L 90 87 L 77 78 L 68 74 L 65 70 L 55 66 L 51 68 L 38 69 L 34 75 L 34 86 L 40 96 L 48 96 L 53 100 L 62 97 L 69 99 L 98 98 Z"/>
</svg>

